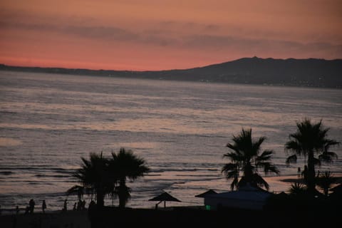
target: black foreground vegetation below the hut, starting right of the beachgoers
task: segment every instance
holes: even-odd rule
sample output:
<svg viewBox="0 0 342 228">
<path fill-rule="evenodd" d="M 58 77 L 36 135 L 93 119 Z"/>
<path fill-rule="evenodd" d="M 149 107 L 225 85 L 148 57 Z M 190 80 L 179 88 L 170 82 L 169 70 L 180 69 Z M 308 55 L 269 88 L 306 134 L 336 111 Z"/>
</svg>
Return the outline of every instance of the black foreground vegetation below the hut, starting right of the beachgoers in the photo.
<svg viewBox="0 0 342 228">
<path fill-rule="evenodd" d="M 92 227 L 341 227 L 339 207 L 319 202 L 296 208 L 263 211 L 242 209 L 175 208 L 113 209 L 105 207 L 90 217 Z"/>
</svg>

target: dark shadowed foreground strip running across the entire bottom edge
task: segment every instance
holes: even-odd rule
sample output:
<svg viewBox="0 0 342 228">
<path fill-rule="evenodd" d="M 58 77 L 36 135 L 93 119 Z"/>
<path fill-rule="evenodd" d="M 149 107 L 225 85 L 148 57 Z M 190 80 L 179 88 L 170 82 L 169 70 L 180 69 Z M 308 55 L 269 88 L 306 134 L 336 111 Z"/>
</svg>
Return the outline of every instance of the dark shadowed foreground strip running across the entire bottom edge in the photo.
<svg viewBox="0 0 342 228">
<path fill-rule="evenodd" d="M 314 219 L 315 218 L 315 219 Z M 319 218 L 319 219 L 316 219 Z M 117 209 L 106 207 L 88 217 L 87 212 L 3 215 L 2 228 L 24 227 L 341 227 L 338 210 L 252 211 L 198 207 L 168 209 Z"/>
</svg>

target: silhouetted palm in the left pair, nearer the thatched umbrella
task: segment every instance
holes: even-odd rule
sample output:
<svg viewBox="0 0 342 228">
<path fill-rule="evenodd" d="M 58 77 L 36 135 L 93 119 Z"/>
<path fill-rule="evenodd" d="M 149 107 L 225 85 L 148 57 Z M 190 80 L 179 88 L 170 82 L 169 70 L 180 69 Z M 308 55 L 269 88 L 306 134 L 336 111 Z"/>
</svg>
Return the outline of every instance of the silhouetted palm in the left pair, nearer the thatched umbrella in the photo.
<svg viewBox="0 0 342 228">
<path fill-rule="evenodd" d="M 125 148 L 121 148 L 118 154 L 112 152 L 112 156 L 110 172 L 118 180 L 116 194 L 119 197 L 119 207 L 124 208 L 130 199 L 130 188 L 126 186 L 126 180 L 134 181 L 143 177 L 150 169 L 145 165 L 145 160 L 133 155 L 131 150 L 126 151 Z"/>
</svg>

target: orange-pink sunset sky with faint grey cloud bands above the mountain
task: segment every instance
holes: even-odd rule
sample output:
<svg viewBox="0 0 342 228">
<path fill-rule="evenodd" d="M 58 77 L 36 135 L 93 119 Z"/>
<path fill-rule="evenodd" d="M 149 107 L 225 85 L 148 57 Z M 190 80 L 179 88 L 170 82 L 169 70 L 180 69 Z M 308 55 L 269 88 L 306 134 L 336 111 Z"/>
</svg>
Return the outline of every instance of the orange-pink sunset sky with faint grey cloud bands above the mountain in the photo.
<svg viewBox="0 0 342 228">
<path fill-rule="evenodd" d="M 1 0 L 0 63 L 109 70 L 342 58 L 341 0 Z"/>
</svg>

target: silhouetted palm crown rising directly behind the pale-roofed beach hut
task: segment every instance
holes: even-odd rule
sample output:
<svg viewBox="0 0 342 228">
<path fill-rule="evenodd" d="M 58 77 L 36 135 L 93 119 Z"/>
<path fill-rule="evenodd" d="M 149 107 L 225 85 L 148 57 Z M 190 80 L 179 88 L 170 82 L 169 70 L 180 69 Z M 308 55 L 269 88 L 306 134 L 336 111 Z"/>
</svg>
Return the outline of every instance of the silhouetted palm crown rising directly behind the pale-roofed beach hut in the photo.
<svg viewBox="0 0 342 228">
<path fill-rule="evenodd" d="M 230 162 L 222 167 L 222 172 L 224 172 L 227 179 L 233 179 L 230 185 L 231 189 L 234 190 L 234 187 L 238 189 L 240 186 L 249 183 L 269 190 L 269 185 L 259 175 L 258 170 L 262 168 L 265 175 L 268 175 L 269 172 L 279 174 L 279 170 L 270 162 L 271 155 L 274 154 L 273 150 L 264 150 L 261 153 L 261 144 L 266 138 L 261 137 L 254 141 L 252 139 L 252 129 L 244 130 L 242 128 L 241 133 L 237 136 L 233 135 L 232 140 L 233 143 L 227 144 L 227 147 L 232 152 L 223 155 Z M 242 172 L 242 178 L 239 180 L 240 172 Z"/>
</svg>

